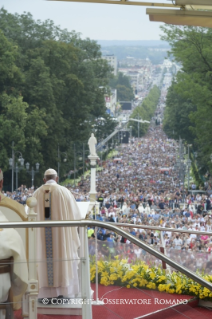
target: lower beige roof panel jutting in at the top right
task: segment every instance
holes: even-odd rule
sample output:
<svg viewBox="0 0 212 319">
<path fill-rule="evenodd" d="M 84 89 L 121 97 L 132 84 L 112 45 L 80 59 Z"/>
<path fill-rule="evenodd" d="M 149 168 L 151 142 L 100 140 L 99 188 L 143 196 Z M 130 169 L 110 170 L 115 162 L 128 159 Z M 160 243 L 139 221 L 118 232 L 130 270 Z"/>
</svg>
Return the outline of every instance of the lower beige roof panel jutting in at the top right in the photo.
<svg viewBox="0 0 212 319">
<path fill-rule="evenodd" d="M 212 28 L 212 12 L 196 10 L 147 9 L 150 21 Z"/>
</svg>

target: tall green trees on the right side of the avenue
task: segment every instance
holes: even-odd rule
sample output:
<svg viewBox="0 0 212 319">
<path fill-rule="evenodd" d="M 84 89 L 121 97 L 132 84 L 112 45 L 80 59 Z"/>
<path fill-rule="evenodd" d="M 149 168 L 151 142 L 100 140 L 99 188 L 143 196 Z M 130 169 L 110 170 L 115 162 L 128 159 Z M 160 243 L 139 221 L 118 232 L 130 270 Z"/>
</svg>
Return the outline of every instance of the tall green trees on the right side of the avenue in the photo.
<svg viewBox="0 0 212 319">
<path fill-rule="evenodd" d="M 212 30 L 176 26 L 162 30 L 170 53 L 182 65 L 167 96 L 164 129 L 171 136 L 174 129 L 176 138 L 192 142 L 204 173 L 212 153 Z"/>
</svg>

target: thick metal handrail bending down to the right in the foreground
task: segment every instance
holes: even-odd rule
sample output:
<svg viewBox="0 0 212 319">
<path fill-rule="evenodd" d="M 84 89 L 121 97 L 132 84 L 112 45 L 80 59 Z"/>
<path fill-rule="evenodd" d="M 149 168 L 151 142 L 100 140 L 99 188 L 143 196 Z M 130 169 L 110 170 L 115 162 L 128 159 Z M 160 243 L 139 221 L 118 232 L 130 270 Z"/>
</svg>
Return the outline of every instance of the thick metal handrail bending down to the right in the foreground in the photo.
<svg viewBox="0 0 212 319">
<path fill-rule="evenodd" d="M 128 224 L 127 224 L 128 225 Z M 167 256 L 163 255 L 162 253 L 156 251 L 152 247 L 150 247 L 148 244 L 142 242 L 141 240 L 137 239 L 133 235 L 127 233 L 126 231 L 120 229 L 120 227 L 109 224 L 109 223 L 104 223 L 96 220 L 78 220 L 78 221 L 42 221 L 42 222 L 9 222 L 9 223 L 0 223 L 0 228 L 38 228 L 38 227 L 101 227 L 101 228 L 106 228 L 110 229 L 117 234 L 127 238 L 130 242 L 136 244 L 138 247 L 144 249 L 148 253 L 152 254 L 156 258 L 159 258 L 160 260 L 164 261 L 167 263 L 169 266 L 175 268 L 176 270 L 180 271 L 181 273 L 185 274 L 189 278 L 195 280 L 197 283 L 202 285 L 203 287 L 208 288 L 209 290 L 212 291 L 212 284 L 209 283 L 208 281 L 204 280 L 203 278 L 199 277 L 197 274 L 194 272 L 186 269 L 185 267 L 179 265 L 178 263 L 174 262 Z M 123 226 L 123 224 L 122 224 Z M 135 225 L 133 225 L 135 228 Z M 143 227 L 143 226 L 141 226 Z M 159 230 L 169 230 L 173 231 L 172 228 L 158 228 L 155 227 Z M 150 227 L 150 229 L 153 229 L 153 227 Z M 182 231 L 185 232 L 185 231 Z M 191 233 L 191 232 L 190 232 Z M 200 233 L 200 232 L 198 232 Z M 207 233 L 207 232 L 204 232 Z M 208 233 L 207 233 L 208 234 Z"/>
</svg>

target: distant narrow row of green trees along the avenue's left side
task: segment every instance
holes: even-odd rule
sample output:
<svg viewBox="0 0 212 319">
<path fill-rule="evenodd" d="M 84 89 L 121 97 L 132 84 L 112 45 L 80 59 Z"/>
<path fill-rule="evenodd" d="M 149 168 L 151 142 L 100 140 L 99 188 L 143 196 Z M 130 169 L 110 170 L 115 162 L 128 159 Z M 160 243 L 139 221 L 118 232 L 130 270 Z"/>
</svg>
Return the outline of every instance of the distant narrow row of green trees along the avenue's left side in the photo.
<svg viewBox="0 0 212 319">
<path fill-rule="evenodd" d="M 137 106 L 131 114 L 131 118 L 133 119 L 142 119 L 150 121 L 158 104 L 160 97 L 160 90 L 157 86 L 154 86 L 147 97 L 143 100 L 143 102 Z M 139 136 L 143 136 L 146 134 L 149 123 L 139 123 L 130 121 L 128 126 L 132 126 L 132 135 L 137 137 L 138 136 L 138 126 L 139 126 Z"/>
</svg>

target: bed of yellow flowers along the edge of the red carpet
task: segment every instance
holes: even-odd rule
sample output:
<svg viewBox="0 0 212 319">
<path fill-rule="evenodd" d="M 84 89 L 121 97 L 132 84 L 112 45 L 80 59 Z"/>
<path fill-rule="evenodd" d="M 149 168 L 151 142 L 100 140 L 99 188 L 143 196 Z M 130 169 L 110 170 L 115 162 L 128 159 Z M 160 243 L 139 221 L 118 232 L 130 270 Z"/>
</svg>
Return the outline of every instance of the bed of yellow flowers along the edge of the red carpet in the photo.
<svg viewBox="0 0 212 319">
<path fill-rule="evenodd" d="M 165 291 L 173 294 L 184 294 L 197 296 L 200 299 L 212 301 L 212 291 L 202 287 L 192 279 L 177 272 L 166 273 L 160 267 L 150 267 L 143 261 L 136 261 L 134 264 L 128 264 L 126 259 L 103 261 L 98 263 L 98 282 L 101 285 L 118 285 L 127 288 L 147 288 L 159 291 Z M 198 274 L 205 280 L 212 283 L 211 275 Z M 96 280 L 95 260 L 90 263 L 91 282 Z"/>
</svg>

